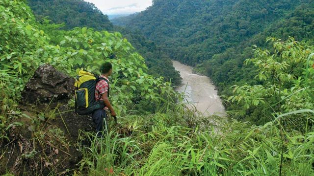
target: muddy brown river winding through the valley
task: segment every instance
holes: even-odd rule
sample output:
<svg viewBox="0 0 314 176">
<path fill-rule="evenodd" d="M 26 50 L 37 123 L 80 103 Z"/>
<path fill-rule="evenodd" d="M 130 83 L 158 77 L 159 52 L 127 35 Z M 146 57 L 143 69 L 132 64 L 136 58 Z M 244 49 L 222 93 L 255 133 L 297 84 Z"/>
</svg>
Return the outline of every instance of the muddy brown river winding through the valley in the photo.
<svg viewBox="0 0 314 176">
<path fill-rule="evenodd" d="M 225 114 L 224 106 L 209 77 L 194 74 L 191 66 L 185 66 L 178 61 L 172 62 L 183 79 L 181 87 L 177 90 L 185 93 L 186 101 L 191 102 L 198 111 L 205 115 L 223 116 Z"/>
</svg>

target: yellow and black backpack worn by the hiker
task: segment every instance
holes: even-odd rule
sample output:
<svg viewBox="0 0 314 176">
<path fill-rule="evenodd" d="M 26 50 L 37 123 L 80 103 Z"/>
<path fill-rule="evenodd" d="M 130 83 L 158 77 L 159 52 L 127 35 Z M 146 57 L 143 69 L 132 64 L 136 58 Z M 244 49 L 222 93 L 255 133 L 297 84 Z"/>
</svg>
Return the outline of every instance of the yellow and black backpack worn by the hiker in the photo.
<svg viewBox="0 0 314 176">
<path fill-rule="evenodd" d="M 80 70 L 75 82 L 75 110 L 78 115 L 88 115 L 94 110 L 103 109 L 105 107 L 104 101 L 95 100 L 96 84 L 105 78 L 99 77 L 96 74 L 85 70 Z M 109 84 L 108 84 L 109 85 Z M 109 97 L 109 90 L 108 90 Z"/>
</svg>

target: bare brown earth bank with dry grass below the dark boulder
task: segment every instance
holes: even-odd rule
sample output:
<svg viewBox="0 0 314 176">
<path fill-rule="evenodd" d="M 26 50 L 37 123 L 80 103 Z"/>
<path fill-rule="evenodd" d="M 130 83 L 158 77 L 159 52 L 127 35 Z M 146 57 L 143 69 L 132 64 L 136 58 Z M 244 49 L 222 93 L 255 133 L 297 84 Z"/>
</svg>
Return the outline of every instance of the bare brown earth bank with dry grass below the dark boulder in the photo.
<svg viewBox="0 0 314 176">
<path fill-rule="evenodd" d="M 94 131 L 94 123 L 88 116 L 69 111 L 66 105 L 54 103 L 48 109 L 47 106 L 20 107 L 32 118 L 45 110 L 54 113 L 45 114 L 45 120 L 37 127 L 28 118 L 22 118 L 24 127 L 11 130 L 11 141 L 0 145 L 0 175 L 8 171 L 16 176 L 66 175 L 78 168 L 82 155 L 79 149 L 89 146 L 86 140 L 78 139 L 79 131 Z M 48 119 L 49 115 L 52 119 Z"/>
</svg>

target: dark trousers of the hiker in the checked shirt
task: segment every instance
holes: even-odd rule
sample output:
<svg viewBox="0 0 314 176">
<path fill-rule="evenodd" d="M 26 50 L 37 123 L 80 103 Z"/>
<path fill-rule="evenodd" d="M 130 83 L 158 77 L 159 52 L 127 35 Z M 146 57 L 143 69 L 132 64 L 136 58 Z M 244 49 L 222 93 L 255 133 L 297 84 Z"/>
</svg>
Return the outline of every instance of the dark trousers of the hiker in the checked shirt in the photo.
<svg viewBox="0 0 314 176">
<path fill-rule="evenodd" d="M 103 132 L 107 131 L 105 120 L 107 118 L 106 111 L 103 109 L 95 110 L 92 114 L 93 121 L 96 124 L 97 137 L 102 137 Z M 105 126 L 105 129 L 104 129 Z"/>
</svg>

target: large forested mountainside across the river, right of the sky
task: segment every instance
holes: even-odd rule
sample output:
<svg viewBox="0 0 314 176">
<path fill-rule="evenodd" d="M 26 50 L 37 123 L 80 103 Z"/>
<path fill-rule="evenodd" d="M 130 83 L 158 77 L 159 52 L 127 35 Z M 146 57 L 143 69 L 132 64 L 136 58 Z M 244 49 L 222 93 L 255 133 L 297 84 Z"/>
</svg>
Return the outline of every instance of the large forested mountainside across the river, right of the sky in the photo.
<svg viewBox="0 0 314 176">
<path fill-rule="evenodd" d="M 272 49 L 269 36 L 314 42 L 312 0 L 154 0 L 147 10 L 113 20 L 140 30 L 174 60 L 196 66 L 208 75 L 221 95 L 233 95 L 233 85 L 261 83 L 257 70 L 244 61 L 254 57 L 254 47 Z M 184 17 L 184 18 L 182 18 Z M 228 110 L 241 107 L 226 103 Z M 252 112 L 239 118 L 261 124 Z M 257 112 L 256 112 L 257 113 Z"/>
</svg>

